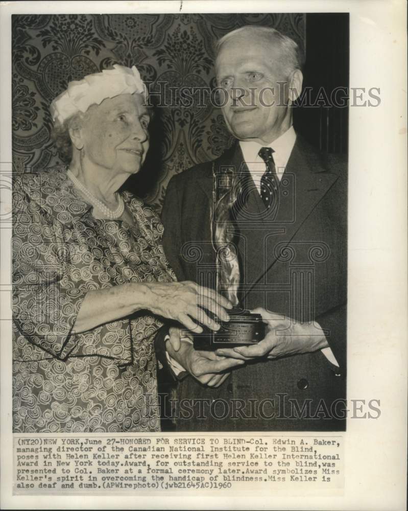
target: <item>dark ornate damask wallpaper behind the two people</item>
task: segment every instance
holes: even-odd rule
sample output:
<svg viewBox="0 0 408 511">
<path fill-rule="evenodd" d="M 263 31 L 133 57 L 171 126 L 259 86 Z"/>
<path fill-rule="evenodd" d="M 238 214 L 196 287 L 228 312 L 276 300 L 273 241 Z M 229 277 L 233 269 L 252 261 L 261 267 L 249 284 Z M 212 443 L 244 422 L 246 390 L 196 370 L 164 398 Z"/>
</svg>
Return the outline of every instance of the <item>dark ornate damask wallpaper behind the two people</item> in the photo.
<svg viewBox="0 0 408 511">
<path fill-rule="evenodd" d="M 305 47 L 304 14 L 14 15 L 13 171 L 60 164 L 49 106 L 70 80 L 135 64 L 157 87 L 213 88 L 214 41 L 249 24 L 274 27 Z M 156 108 L 145 166 L 126 187 L 160 209 L 174 174 L 214 159 L 231 142 L 220 109 L 208 102 Z"/>
</svg>

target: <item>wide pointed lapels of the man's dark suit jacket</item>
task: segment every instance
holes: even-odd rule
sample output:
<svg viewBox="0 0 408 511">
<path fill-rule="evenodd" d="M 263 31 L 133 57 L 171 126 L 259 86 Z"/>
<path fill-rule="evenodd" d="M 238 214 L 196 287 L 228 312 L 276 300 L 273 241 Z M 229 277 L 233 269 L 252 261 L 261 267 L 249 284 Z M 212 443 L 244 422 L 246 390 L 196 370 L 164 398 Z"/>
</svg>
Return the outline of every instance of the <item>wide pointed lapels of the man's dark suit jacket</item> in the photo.
<svg viewBox="0 0 408 511">
<path fill-rule="evenodd" d="M 255 189 L 241 148 L 236 143 L 214 160 L 198 181 L 207 197 L 210 211 L 213 211 L 214 204 L 213 172 L 218 173 L 222 167 L 233 167 L 236 172 L 241 173 L 250 188 L 246 202 L 248 207 L 237 213 L 237 222 L 239 246 L 243 249 L 245 247 L 242 258 L 243 273 L 248 285 L 253 286 L 273 267 L 279 252 L 290 243 L 338 179 L 338 175 L 327 171 L 319 155 L 298 135 L 280 182 L 279 206 L 275 213 L 269 214 Z M 277 244 L 279 250 L 274 250 Z"/>
</svg>

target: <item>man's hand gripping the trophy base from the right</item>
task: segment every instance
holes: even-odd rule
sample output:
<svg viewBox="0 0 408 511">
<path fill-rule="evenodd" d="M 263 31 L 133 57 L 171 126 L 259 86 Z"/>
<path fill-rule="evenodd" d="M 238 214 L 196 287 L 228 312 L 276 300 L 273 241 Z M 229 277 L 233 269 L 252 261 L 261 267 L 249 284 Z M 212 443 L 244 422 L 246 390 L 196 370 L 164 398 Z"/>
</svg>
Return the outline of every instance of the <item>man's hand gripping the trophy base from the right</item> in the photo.
<svg viewBox="0 0 408 511">
<path fill-rule="evenodd" d="M 296 322 L 262 308 L 252 312 L 261 314 L 263 321 L 267 323 L 265 339 L 249 346 L 220 349 L 215 352 L 217 355 L 240 360 L 257 357 L 273 359 L 314 352 L 328 346 L 323 330 L 316 322 Z"/>
</svg>

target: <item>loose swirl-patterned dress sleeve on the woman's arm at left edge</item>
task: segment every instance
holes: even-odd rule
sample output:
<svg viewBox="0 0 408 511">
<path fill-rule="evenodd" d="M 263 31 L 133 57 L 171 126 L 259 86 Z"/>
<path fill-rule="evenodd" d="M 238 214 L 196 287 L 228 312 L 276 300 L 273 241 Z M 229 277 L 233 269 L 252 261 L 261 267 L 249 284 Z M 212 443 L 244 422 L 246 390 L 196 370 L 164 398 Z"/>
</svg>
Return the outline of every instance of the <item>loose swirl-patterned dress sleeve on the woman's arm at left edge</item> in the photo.
<svg viewBox="0 0 408 511">
<path fill-rule="evenodd" d="M 70 274 L 63 227 L 13 183 L 13 321 L 32 344 L 64 360 L 75 347 L 73 331 L 86 290 Z"/>
</svg>

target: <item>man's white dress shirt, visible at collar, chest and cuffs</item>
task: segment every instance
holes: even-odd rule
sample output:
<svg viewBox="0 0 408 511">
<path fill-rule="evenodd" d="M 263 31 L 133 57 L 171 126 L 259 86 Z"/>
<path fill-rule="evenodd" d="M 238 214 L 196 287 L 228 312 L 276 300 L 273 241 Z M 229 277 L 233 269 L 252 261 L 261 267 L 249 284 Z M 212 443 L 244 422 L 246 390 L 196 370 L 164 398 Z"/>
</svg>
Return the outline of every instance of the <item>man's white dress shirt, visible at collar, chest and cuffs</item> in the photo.
<svg viewBox="0 0 408 511">
<path fill-rule="evenodd" d="M 244 156 L 245 163 L 248 167 L 248 170 L 251 174 L 252 179 L 254 180 L 255 186 L 260 193 L 260 180 L 263 174 L 265 174 L 266 171 L 266 165 L 265 161 L 259 156 L 258 152 L 261 147 L 271 147 L 273 152 L 273 159 L 275 162 L 275 168 L 276 168 L 276 174 L 279 179 L 279 181 L 282 179 L 282 175 L 285 171 L 287 162 L 289 161 L 289 157 L 291 156 L 293 147 L 296 142 L 296 133 L 291 126 L 289 130 L 285 131 L 283 135 L 280 135 L 280 137 L 276 138 L 272 142 L 272 144 L 269 144 L 268 146 L 261 146 L 257 142 L 252 141 L 240 141 L 239 146 L 241 146 L 242 154 Z M 318 323 L 315 323 L 317 328 L 321 328 Z M 167 336 L 165 340 L 168 340 L 169 337 Z M 188 340 L 189 339 L 185 339 Z M 191 342 L 191 341 L 189 341 Z M 335 359 L 333 352 L 329 347 L 322 349 L 323 355 L 327 358 L 329 362 L 331 362 L 333 365 L 336 365 L 339 367 L 339 364 L 337 363 L 337 360 Z M 180 374 L 181 371 L 185 370 L 176 360 L 174 360 L 170 355 L 166 352 L 167 361 L 170 363 L 174 373 L 176 375 Z"/>
</svg>

